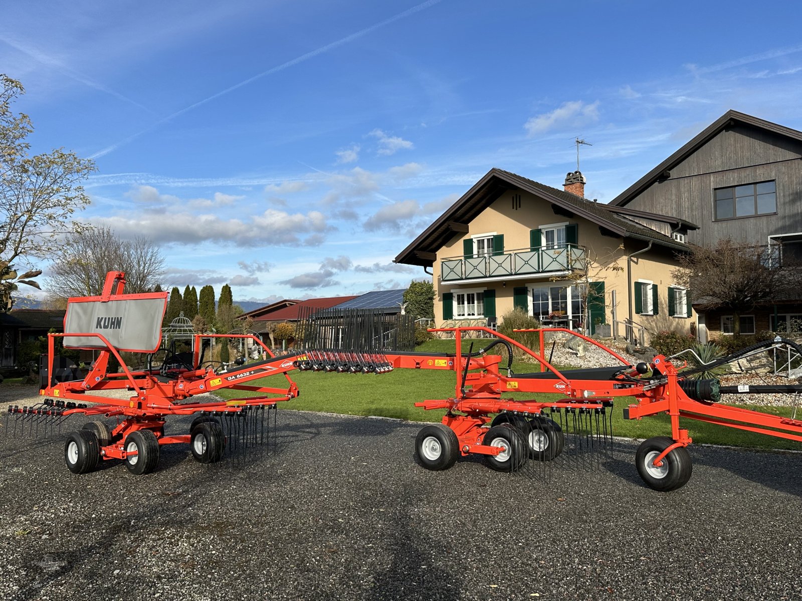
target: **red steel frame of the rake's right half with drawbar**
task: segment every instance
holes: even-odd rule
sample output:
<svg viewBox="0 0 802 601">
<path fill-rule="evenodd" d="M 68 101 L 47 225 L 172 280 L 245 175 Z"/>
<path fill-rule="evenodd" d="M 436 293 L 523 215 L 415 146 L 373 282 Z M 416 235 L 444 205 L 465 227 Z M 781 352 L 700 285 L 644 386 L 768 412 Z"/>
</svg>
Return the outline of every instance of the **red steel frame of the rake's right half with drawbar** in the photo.
<svg viewBox="0 0 802 601">
<path fill-rule="evenodd" d="M 516 332 L 538 333 L 540 337 L 540 353 L 535 353 L 519 342 L 495 330 L 484 327 L 438 328 L 430 329 L 429 331 L 454 333 L 456 338 L 455 356 L 444 358 L 443 356 L 435 355 L 427 357 L 399 353 L 391 354 L 387 357 L 394 367 L 452 369 L 456 371 L 456 393 L 454 397 L 443 400 L 423 401 L 415 403 L 415 406 L 423 407 L 424 409 L 448 409 L 448 413 L 443 418 L 443 423 L 452 428 L 457 434 L 463 455 L 469 453 L 498 454 L 500 452 L 498 447 L 482 446 L 480 444 L 481 438 L 484 436 L 484 431 L 480 429 L 491 421 L 488 416 L 489 413 L 510 411 L 522 413 L 523 415 L 533 415 L 541 413 L 546 408 L 597 409 L 609 404 L 614 397 L 634 397 L 637 401 L 624 409 L 624 417 L 626 419 L 642 419 L 642 417 L 658 413 L 667 413 L 670 416 L 671 438 L 674 440 L 674 444 L 654 458 L 655 466 L 661 466 L 662 459 L 675 448 L 688 446 L 693 442 L 693 439 L 688 436 L 688 430 L 680 427 L 680 417 L 802 442 L 802 421 L 800 420 L 708 401 L 695 401 L 688 397 L 678 384 L 678 380 L 682 379 L 679 370 L 683 369 L 685 365 L 677 367 L 662 355 L 654 357 L 650 365 L 651 369 L 657 369 L 662 373 L 662 378 L 644 377 L 635 382 L 632 381 L 631 377 L 638 377 L 639 374 L 632 369 L 612 380 L 572 380 L 570 373 L 561 373 L 549 361 L 545 360 L 545 333 L 562 332 L 579 337 L 583 341 L 605 350 L 611 357 L 620 362 L 622 369 L 628 367 L 629 362 L 592 338 L 565 328 L 516 330 Z M 507 341 L 533 357 L 537 361 L 538 369 L 541 372 L 544 369 L 548 370 L 553 374 L 553 377 L 529 379 L 516 378 L 514 375 L 504 376 L 499 372 L 500 356 L 463 357 L 462 337 L 464 333 L 468 332 L 489 333 L 494 338 Z M 468 361 L 468 374 L 463 381 L 465 361 Z M 557 402 L 515 401 L 512 398 L 505 399 L 501 397 L 504 392 L 557 392 L 565 395 L 565 398 Z M 454 414 L 454 411 L 465 415 Z"/>
</svg>

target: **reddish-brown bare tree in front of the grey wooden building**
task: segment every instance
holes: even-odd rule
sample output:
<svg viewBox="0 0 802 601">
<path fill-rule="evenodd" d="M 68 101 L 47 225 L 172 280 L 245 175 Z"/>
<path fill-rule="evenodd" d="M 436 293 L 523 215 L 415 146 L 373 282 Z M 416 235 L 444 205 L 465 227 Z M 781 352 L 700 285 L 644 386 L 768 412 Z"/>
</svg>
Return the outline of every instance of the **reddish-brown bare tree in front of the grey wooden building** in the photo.
<svg viewBox="0 0 802 601">
<path fill-rule="evenodd" d="M 802 266 L 780 261 L 779 247 L 743 246 L 719 240 L 713 248 L 691 246 L 677 257 L 674 281 L 691 290 L 703 311 L 727 309 L 740 333 L 740 314 L 772 300 L 796 300 L 802 291 Z"/>
</svg>

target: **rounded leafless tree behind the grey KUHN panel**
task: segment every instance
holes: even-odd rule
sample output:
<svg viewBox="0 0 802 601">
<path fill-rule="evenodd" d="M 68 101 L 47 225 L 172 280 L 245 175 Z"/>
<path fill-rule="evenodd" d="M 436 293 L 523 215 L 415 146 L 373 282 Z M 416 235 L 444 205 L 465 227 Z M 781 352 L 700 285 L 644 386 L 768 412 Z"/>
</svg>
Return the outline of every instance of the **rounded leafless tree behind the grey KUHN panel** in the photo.
<svg viewBox="0 0 802 601">
<path fill-rule="evenodd" d="M 47 280 L 51 296 L 98 295 L 110 271 L 125 272 L 125 292 L 148 292 L 164 273 L 164 257 L 145 237 L 119 240 L 110 228 L 94 228 L 67 236 L 65 246 Z"/>
</svg>

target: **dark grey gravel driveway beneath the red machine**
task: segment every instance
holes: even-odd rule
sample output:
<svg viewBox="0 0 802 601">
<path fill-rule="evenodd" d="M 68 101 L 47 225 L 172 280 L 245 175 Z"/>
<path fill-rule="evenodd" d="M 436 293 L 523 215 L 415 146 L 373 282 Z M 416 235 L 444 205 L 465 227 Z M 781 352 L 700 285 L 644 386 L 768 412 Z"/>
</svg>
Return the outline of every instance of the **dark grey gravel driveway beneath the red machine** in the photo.
<svg viewBox="0 0 802 601">
<path fill-rule="evenodd" d="M 144 477 L 0 438 L 0 599 L 802 597 L 798 454 L 692 446 L 691 482 L 660 494 L 634 444 L 544 482 L 423 470 L 419 428 L 282 411 L 245 469 L 174 445 Z"/>
</svg>

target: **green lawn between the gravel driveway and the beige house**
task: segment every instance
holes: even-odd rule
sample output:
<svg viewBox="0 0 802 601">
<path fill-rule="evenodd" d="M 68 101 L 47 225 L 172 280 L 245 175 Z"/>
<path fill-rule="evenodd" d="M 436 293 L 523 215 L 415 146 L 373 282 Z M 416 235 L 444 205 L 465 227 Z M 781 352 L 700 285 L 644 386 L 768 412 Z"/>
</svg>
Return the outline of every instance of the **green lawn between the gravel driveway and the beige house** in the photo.
<svg viewBox="0 0 802 601">
<path fill-rule="evenodd" d="M 485 341 L 477 341 L 477 350 Z M 430 341 L 419 347 L 419 350 L 431 352 L 453 352 L 454 341 Z M 468 347 L 465 347 L 468 350 Z M 503 353 L 502 353 L 503 354 Z M 506 364 L 506 358 L 502 365 Z M 517 373 L 534 371 L 532 364 L 516 363 L 513 370 Z M 415 407 L 415 401 L 453 397 L 456 383 L 455 373 L 434 369 L 395 369 L 382 375 L 325 373 L 325 372 L 290 372 L 290 376 L 298 383 L 301 396 L 292 401 L 281 403 L 286 409 L 306 411 L 326 411 L 347 415 L 378 415 L 397 417 L 413 422 L 439 422 L 444 409 L 426 411 Z M 283 377 L 264 378 L 261 383 L 271 386 L 283 386 Z M 235 390 L 219 390 L 222 397 L 234 398 L 246 396 Z M 508 396 L 508 395 L 505 395 Z M 560 398 L 561 395 L 533 395 L 532 393 L 514 393 L 513 398 L 520 400 L 537 398 L 538 401 L 549 398 Z M 670 436 L 670 422 L 667 415 L 645 417 L 642 420 L 625 420 L 622 409 L 630 404 L 630 399 L 615 401 L 613 408 L 613 434 L 629 438 L 650 438 L 652 436 Z M 740 405 L 744 406 L 744 405 Z M 765 413 L 791 417 L 790 408 L 749 406 Z M 763 434 L 751 434 L 724 426 L 715 426 L 695 420 L 683 420 L 683 427 L 690 431 L 696 443 L 717 445 L 744 446 L 760 449 L 793 449 L 802 450 L 802 443 L 775 438 Z"/>
</svg>

